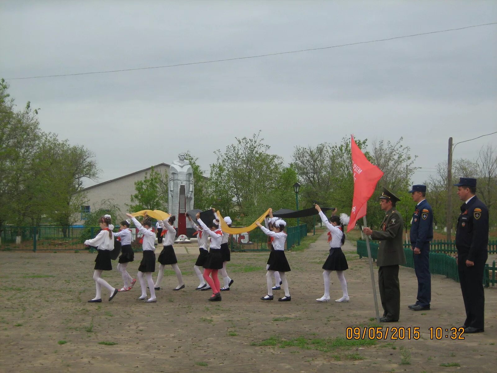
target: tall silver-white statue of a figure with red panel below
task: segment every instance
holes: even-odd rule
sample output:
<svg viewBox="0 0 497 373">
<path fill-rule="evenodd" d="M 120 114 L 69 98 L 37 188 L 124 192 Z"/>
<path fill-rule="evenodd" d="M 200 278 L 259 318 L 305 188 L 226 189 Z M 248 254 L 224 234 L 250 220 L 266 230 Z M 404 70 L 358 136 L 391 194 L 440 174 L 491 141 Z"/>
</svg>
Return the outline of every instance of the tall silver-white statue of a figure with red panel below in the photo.
<svg viewBox="0 0 497 373">
<path fill-rule="evenodd" d="M 179 153 L 169 167 L 168 213 L 176 215 L 178 235 L 186 234 L 185 212 L 193 209 L 193 169 L 185 161 L 185 153 Z"/>
</svg>

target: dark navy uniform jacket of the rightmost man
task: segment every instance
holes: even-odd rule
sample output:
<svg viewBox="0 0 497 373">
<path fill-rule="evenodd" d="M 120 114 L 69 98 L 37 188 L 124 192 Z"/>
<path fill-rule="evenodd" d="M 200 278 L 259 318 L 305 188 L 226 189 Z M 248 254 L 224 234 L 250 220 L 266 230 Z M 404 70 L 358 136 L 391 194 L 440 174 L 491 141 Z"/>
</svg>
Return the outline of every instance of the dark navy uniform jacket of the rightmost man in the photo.
<svg viewBox="0 0 497 373">
<path fill-rule="evenodd" d="M 457 219 L 456 247 L 467 260 L 474 262 L 482 253 L 487 253 L 489 244 L 489 210 L 475 195 L 461 206 Z"/>
</svg>

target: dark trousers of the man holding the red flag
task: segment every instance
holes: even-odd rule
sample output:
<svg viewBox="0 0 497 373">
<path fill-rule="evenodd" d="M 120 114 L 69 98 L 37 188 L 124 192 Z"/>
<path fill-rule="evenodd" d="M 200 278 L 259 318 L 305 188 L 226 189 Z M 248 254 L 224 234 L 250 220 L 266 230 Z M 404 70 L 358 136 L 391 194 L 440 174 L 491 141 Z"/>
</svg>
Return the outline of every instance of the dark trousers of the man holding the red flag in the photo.
<svg viewBox="0 0 497 373">
<path fill-rule="evenodd" d="M 383 317 L 399 320 L 401 313 L 401 288 L 399 283 L 399 265 L 383 266 L 378 269 Z"/>
</svg>

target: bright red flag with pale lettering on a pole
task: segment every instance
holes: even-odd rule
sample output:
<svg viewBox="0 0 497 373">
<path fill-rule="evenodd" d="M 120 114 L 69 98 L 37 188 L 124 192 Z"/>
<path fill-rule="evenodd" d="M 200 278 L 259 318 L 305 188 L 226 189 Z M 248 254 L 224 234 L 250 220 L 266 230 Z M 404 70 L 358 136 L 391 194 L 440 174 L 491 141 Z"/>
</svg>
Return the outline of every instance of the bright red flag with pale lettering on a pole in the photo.
<svg viewBox="0 0 497 373">
<path fill-rule="evenodd" d="M 369 198 L 374 193 L 376 184 L 383 176 L 383 171 L 371 164 L 361 152 L 354 141 L 350 141 L 352 149 L 352 174 L 354 175 L 354 198 L 352 200 L 352 211 L 350 212 L 350 221 L 347 226 L 347 232 L 355 227 L 358 219 L 366 215 L 366 207 Z"/>
</svg>

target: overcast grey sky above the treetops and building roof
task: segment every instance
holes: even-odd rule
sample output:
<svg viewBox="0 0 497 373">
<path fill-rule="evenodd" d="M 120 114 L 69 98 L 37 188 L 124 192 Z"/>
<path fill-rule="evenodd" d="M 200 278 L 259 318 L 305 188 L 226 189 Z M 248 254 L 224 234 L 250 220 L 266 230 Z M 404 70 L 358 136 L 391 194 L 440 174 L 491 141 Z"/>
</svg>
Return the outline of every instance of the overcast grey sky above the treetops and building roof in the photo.
<svg viewBox="0 0 497 373">
<path fill-rule="evenodd" d="M 497 1 L 0 1 L 0 77 L 85 73 L 320 48 L 497 21 Z M 44 131 L 95 154 L 99 182 L 171 163 L 203 169 L 262 129 L 286 162 L 296 145 L 396 141 L 414 184 L 447 141 L 497 130 L 497 25 L 163 69 L 9 80 Z M 475 158 L 497 134 L 459 145 Z M 93 183 L 86 183 L 89 186 Z"/>
</svg>

